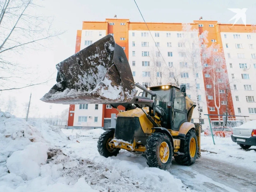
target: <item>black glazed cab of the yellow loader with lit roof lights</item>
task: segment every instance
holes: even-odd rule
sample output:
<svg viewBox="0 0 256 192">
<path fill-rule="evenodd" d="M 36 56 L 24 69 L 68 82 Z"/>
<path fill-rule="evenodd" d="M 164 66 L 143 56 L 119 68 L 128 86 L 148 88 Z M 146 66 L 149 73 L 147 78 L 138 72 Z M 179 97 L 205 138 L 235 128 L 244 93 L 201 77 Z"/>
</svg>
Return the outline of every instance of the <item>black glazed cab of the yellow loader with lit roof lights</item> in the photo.
<svg viewBox="0 0 256 192">
<path fill-rule="evenodd" d="M 161 85 L 149 87 L 157 94 L 157 106 L 161 107 L 166 115 L 162 117 L 162 127 L 166 129 L 179 130 L 182 123 L 187 121 L 186 110 L 186 86 L 181 89 L 175 85 Z M 151 98 L 150 94 L 142 94 L 143 97 Z"/>
</svg>

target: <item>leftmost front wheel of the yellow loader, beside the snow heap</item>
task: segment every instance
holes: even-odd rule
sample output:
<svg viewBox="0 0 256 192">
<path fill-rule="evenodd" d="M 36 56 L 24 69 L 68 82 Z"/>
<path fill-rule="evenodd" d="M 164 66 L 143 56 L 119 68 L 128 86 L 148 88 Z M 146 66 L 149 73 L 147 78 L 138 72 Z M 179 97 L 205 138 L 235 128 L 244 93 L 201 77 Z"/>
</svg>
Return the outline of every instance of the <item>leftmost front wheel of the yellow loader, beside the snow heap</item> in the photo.
<svg viewBox="0 0 256 192">
<path fill-rule="evenodd" d="M 98 151 L 99 154 L 104 157 L 111 157 L 111 156 L 117 156 L 120 149 L 118 148 L 111 148 L 108 145 L 108 142 L 113 139 L 114 137 L 114 131 L 113 130 L 106 130 L 104 133 L 101 134 L 98 140 Z"/>
</svg>

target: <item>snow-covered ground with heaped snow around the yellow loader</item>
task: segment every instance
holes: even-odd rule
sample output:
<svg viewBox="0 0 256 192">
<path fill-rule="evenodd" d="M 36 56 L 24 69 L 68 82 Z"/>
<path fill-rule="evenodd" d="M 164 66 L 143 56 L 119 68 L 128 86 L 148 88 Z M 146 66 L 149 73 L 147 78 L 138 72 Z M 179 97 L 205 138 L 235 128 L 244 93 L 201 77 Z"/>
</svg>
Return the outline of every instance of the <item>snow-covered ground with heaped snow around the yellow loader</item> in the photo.
<svg viewBox="0 0 256 192">
<path fill-rule="evenodd" d="M 195 191 L 182 183 L 186 178 L 178 171 L 179 179 L 148 167 L 143 154 L 121 150 L 117 157 L 100 156 L 97 141 L 103 132 L 61 130 L 0 111 L 0 191 Z M 204 136 L 201 143 L 202 157 L 256 167 L 256 147 L 242 150 L 231 138 L 215 138 L 213 145 Z"/>
</svg>

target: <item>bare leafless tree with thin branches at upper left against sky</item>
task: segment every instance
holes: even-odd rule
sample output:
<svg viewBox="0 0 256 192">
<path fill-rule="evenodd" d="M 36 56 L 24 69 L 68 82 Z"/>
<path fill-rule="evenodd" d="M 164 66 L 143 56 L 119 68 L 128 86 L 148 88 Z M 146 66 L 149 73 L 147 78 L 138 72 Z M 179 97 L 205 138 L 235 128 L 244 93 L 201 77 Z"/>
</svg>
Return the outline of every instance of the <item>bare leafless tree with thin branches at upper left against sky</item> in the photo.
<svg viewBox="0 0 256 192">
<path fill-rule="evenodd" d="M 52 30 L 52 18 L 37 14 L 41 7 L 35 4 L 35 1 L 0 1 L 0 86 L 4 87 L 0 91 L 22 89 L 42 83 L 36 82 L 35 79 L 32 80 L 34 82 L 27 82 L 29 70 L 11 59 L 15 54 L 22 53 L 25 48 L 43 46 L 43 40 L 61 34 Z M 21 80 L 25 81 L 25 84 L 16 87 L 14 84 Z"/>
</svg>

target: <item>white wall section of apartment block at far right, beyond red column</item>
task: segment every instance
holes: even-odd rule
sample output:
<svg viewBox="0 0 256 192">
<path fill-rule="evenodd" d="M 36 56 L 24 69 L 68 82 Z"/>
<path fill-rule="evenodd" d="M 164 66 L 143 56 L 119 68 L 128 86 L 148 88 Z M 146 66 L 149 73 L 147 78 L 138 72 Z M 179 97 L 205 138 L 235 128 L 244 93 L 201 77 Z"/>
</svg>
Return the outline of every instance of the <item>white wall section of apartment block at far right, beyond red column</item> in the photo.
<svg viewBox="0 0 256 192">
<path fill-rule="evenodd" d="M 256 33 L 221 33 L 221 38 L 235 115 L 256 119 Z"/>
</svg>

